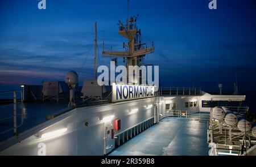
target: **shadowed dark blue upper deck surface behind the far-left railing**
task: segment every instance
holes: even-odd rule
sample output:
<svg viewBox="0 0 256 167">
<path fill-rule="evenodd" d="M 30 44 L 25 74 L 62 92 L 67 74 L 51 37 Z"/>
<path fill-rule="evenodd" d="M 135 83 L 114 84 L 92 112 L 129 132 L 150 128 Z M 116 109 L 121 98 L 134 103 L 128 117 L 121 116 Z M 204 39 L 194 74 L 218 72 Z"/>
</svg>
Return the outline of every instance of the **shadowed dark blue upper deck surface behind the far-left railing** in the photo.
<svg viewBox="0 0 256 167">
<path fill-rule="evenodd" d="M 47 115 L 67 108 L 67 102 L 29 102 L 23 105 L 19 102 L 17 104 L 17 131 L 18 134 L 25 130 L 30 129 L 40 123 L 46 121 Z M 0 105 L 0 133 L 13 128 L 13 104 Z M 22 114 L 23 111 L 23 114 Z M 4 118 L 10 117 L 8 119 L 2 120 Z M 5 140 L 13 136 L 13 130 L 0 135 L 0 141 Z"/>
</svg>

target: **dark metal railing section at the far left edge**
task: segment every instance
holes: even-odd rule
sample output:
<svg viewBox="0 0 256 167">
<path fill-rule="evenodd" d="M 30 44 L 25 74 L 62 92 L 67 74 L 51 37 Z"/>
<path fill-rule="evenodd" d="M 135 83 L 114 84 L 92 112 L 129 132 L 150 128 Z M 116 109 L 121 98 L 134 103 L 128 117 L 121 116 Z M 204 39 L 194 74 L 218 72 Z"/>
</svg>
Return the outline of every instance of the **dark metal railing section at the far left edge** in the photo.
<svg viewBox="0 0 256 167">
<path fill-rule="evenodd" d="M 13 116 L 0 119 L 0 121 L 4 121 L 6 119 L 13 118 L 13 128 L 0 132 L 0 135 L 5 134 L 5 132 L 11 131 L 11 130 L 13 130 L 14 135 L 18 135 L 17 128 L 22 126 L 22 124 L 23 124 L 23 121 L 22 121 L 21 125 L 17 126 L 17 116 L 18 116 L 17 115 L 17 96 L 16 96 L 17 92 L 20 92 L 20 101 L 23 104 L 23 92 L 22 91 L 0 92 L 0 94 L 13 93 Z M 9 105 L 11 105 L 11 104 L 9 104 Z M 4 107 L 4 106 L 7 106 L 7 105 L 3 105 L 3 106 L 0 106 L 0 107 Z"/>
</svg>

